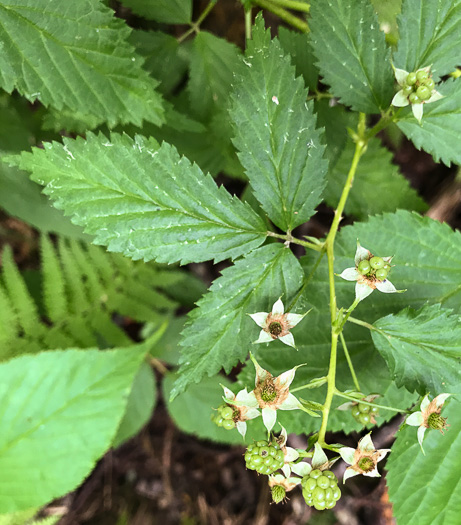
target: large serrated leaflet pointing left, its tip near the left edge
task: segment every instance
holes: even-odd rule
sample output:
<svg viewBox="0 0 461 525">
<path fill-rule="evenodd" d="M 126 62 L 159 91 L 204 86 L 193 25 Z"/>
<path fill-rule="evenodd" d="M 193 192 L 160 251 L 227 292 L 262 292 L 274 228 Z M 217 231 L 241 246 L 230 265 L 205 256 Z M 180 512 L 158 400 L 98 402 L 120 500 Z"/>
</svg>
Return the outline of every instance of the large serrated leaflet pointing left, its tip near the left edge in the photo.
<svg viewBox="0 0 461 525">
<path fill-rule="evenodd" d="M 55 206 L 86 226 L 95 244 L 135 260 L 222 261 L 266 238 L 256 212 L 166 143 L 89 133 L 12 161 L 46 184 Z"/>
</svg>

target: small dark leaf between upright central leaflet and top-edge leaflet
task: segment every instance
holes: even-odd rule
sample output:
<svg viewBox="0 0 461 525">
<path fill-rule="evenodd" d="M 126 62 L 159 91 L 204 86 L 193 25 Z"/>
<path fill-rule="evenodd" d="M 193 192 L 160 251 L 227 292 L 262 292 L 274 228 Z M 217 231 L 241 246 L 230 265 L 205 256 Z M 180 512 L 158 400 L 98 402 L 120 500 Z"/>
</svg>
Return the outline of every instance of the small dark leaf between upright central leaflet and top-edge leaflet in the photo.
<svg viewBox="0 0 461 525">
<path fill-rule="evenodd" d="M 301 75 L 306 86 L 311 90 L 317 89 L 319 72 L 315 66 L 315 56 L 311 46 L 310 33 L 298 33 L 280 26 L 278 37 L 283 51 L 290 55 L 291 63 L 296 68 L 296 75 Z"/>
</svg>

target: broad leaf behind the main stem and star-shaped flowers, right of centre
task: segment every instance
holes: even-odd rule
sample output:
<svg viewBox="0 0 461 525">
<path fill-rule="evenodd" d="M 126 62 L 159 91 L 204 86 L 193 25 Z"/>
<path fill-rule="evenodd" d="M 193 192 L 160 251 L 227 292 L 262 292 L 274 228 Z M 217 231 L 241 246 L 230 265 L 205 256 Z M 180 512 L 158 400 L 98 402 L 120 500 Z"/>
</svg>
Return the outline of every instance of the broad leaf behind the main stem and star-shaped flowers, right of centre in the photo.
<svg viewBox="0 0 461 525">
<path fill-rule="evenodd" d="M 441 224 L 416 213 L 397 211 L 372 217 L 368 222 L 356 223 L 341 229 L 335 247 L 335 272 L 341 273 L 354 265 L 354 254 L 359 239 L 378 255 L 395 255 L 390 280 L 398 289 L 407 288 L 401 294 L 383 294 L 374 291 L 354 310 L 353 317 L 367 323 L 410 306 L 442 303 L 444 307 L 461 313 L 461 234 L 448 225 Z M 306 275 L 309 275 L 318 254 L 309 254 L 302 260 Z M 336 277 L 338 307 L 352 304 L 354 283 Z M 326 260 L 322 260 L 314 272 L 309 285 L 295 305 L 296 311 L 313 308 L 298 325 L 295 333 L 299 352 L 286 352 L 269 345 L 267 349 L 255 349 L 261 366 L 278 375 L 296 365 L 307 363 L 296 371 L 293 387 L 306 384 L 311 379 L 322 377 L 328 370 L 330 354 L 330 313 L 328 308 L 329 288 Z M 365 394 L 379 393 L 383 397 L 377 402 L 406 409 L 415 401 L 415 395 L 405 388 L 398 388 L 388 371 L 384 359 L 373 348 L 370 331 L 362 326 L 347 323 L 344 330 L 347 348 L 358 375 L 360 387 Z M 370 372 L 372 371 L 372 372 Z M 252 388 L 254 375 L 242 384 Z M 339 389 L 353 388 L 351 375 L 341 345 L 338 347 L 337 385 Z M 299 397 L 323 402 L 325 386 L 315 390 L 302 390 Z M 295 395 L 298 395 L 295 394 Z M 346 400 L 335 398 L 334 407 Z M 378 423 L 388 420 L 394 412 L 380 410 Z M 300 412 L 282 412 L 280 421 L 289 432 L 311 432 L 318 424 Z M 360 425 L 350 412 L 333 410 L 328 420 L 332 431 L 351 432 Z M 416 438 L 415 438 L 416 439 Z"/>
</svg>

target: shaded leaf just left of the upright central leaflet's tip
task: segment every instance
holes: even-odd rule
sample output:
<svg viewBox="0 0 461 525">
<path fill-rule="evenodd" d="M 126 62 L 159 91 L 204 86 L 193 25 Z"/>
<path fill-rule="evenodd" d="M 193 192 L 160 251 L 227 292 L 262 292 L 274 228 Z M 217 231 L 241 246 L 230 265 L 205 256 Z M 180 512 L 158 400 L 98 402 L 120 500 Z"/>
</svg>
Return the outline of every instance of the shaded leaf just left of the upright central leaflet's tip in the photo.
<svg viewBox="0 0 461 525">
<path fill-rule="evenodd" d="M 215 108 L 227 107 L 239 54 L 236 45 L 207 31 L 195 37 L 187 90 L 190 110 L 201 121 L 207 121 Z"/>
</svg>

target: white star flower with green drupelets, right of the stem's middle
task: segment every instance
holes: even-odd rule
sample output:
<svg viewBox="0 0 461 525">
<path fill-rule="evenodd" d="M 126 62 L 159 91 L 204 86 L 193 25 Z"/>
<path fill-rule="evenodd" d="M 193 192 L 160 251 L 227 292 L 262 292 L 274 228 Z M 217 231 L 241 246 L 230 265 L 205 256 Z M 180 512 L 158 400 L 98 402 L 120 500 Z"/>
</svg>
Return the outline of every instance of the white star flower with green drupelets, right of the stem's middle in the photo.
<svg viewBox="0 0 461 525">
<path fill-rule="evenodd" d="M 357 251 L 355 252 L 355 267 L 346 268 L 339 276 L 345 279 L 346 281 L 357 281 L 355 285 L 355 297 L 362 301 L 366 297 L 368 297 L 373 290 L 378 289 L 380 292 L 383 293 L 401 293 L 405 290 L 396 290 L 395 286 L 387 279 L 387 275 L 384 279 L 380 279 L 377 274 L 378 270 L 374 270 L 370 267 L 370 270 L 368 273 L 363 274 L 359 271 L 359 265 L 362 261 L 370 261 L 371 259 L 375 258 L 374 255 L 364 248 L 363 246 L 360 246 L 360 243 L 357 241 Z M 388 269 L 386 269 L 387 272 L 390 271 L 390 263 L 392 261 L 391 257 L 379 257 L 379 259 L 382 259 L 385 263 L 385 269 L 386 266 Z"/>
</svg>

